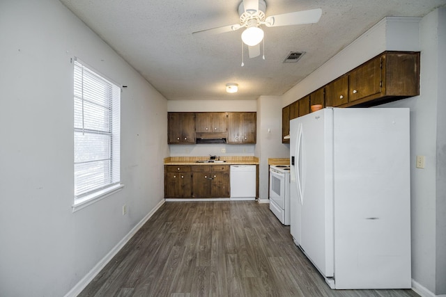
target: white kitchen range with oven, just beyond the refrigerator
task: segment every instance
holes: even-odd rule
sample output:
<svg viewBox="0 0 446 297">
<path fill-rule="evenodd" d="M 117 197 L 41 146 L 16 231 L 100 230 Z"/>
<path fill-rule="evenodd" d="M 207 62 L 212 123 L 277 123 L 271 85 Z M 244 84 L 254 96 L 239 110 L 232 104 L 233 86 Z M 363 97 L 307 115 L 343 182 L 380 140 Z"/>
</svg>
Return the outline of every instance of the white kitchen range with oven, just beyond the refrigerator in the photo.
<svg viewBox="0 0 446 297">
<path fill-rule="evenodd" d="M 270 209 L 284 225 L 290 225 L 290 166 L 270 166 Z"/>
</svg>

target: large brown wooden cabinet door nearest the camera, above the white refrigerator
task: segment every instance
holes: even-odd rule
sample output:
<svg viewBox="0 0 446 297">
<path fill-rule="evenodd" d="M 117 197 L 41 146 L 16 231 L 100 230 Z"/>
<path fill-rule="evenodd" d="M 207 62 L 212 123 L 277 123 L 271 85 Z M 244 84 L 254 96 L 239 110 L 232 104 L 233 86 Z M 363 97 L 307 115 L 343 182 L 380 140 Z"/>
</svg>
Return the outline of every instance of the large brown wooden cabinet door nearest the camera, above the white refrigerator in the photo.
<svg viewBox="0 0 446 297">
<path fill-rule="evenodd" d="M 348 101 L 353 102 L 381 92 L 381 57 L 362 64 L 350 72 Z"/>
</svg>

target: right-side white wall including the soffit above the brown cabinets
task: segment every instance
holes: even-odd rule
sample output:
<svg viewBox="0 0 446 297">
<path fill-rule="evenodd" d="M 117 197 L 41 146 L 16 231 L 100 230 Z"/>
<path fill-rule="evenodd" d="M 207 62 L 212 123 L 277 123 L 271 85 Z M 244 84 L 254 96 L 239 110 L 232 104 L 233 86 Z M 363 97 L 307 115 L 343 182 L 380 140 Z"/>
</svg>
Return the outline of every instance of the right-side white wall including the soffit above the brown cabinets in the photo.
<svg viewBox="0 0 446 297">
<path fill-rule="evenodd" d="M 385 50 L 421 51 L 420 96 L 385 104 L 410 108 L 412 278 L 424 294 L 446 294 L 445 8 L 419 18 L 387 17 L 282 97 L 282 106 Z M 415 168 L 415 156 L 426 168 Z"/>
</svg>

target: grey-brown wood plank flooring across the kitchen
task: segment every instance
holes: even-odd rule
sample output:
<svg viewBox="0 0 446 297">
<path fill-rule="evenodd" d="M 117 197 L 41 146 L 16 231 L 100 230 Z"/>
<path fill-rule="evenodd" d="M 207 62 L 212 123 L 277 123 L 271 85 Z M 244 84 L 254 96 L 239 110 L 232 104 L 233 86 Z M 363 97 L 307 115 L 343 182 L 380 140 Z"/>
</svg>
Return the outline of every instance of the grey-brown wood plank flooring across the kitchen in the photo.
<svg viewBox="0 0 446 297">
<path fill-rule="evenodd" d="M 79 296 L 418 296 L 332 290 L 257 202 L 166 202 Z"/>
</svg>

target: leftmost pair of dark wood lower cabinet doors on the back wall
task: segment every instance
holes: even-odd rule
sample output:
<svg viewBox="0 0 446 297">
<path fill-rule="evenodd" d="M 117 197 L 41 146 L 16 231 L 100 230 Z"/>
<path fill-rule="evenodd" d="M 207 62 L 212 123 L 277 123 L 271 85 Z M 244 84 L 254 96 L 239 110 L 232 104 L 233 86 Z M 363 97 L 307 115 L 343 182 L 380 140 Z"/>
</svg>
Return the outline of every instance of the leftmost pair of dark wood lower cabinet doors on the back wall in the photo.
<svg viewBox="0 0 446 297">
<path fill-rule="evenodd" d="M 166 198 L 190 198 L 191 178 L 190 172 L 165 172 L 164 196 Z"/>
</svg>

